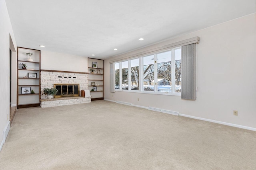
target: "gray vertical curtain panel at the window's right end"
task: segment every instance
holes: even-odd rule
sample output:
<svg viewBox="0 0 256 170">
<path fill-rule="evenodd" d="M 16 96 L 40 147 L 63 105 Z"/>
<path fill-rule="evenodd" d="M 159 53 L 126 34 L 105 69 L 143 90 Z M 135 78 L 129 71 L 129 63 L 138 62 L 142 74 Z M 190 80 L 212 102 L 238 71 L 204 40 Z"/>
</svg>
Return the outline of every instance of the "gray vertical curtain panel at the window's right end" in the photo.
<svg viewBox="0 0 256 170">
<path fill-rule="evenodd" d="M 196 100 L 196 43 L 181 47 L 181 98 Z"/>
</svg>

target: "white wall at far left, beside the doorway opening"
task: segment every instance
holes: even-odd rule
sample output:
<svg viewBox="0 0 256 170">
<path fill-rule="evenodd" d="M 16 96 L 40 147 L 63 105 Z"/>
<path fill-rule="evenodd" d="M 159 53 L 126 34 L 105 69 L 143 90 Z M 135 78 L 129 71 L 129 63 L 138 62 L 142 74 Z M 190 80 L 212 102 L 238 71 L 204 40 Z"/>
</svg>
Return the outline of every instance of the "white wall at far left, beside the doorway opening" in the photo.
<svg viewBox="0 0 256 170">
<path fill-rule="evenodd" d="M 5 0 L 0 0 L 0 149 L 4 142 L 3 133 L 9 123 L 10 117 L 10 84 L 9 84 L 9 59 L 10 59 L 10 36 L 17 49 L 16 41 L 12 31 L 12 25 L 6 8 Z M 16 67 L 15 67 L 16 69 Z"/>
</svg>

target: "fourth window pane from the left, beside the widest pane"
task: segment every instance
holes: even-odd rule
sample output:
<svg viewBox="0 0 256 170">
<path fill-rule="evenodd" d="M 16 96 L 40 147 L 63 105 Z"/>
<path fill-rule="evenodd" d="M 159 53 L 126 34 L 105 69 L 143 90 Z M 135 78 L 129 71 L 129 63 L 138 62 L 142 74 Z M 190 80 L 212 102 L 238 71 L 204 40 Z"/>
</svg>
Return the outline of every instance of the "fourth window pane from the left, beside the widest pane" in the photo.
<svg viewBox="0 0 256 170">
<path fill-rule="evenodd" d="M 143 57 L 143 90 L 154 91 L 154 55 Z"/>
</svg>

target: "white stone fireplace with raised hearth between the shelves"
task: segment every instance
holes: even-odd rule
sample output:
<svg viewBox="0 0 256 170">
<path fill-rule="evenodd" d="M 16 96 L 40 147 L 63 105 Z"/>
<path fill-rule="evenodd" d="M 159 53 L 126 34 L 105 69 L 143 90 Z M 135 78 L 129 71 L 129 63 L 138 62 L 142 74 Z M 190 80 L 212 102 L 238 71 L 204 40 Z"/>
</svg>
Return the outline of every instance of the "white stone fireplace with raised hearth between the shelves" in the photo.
<svg viewBox="0 0 256 170">
<path fill-rule="evenodd" d="M 72 104 L 90 103 L 91 97 L 80 97 L 80 90 L 88 90 L 88 73 L 56 70 L 41 70 L 41 93 L 44 88 L 57 88 L 53 99 L 41 96 L 41 107 L 55 107 Z M 89 92 L 90 93 L 90 92 Z"/>
</svg>

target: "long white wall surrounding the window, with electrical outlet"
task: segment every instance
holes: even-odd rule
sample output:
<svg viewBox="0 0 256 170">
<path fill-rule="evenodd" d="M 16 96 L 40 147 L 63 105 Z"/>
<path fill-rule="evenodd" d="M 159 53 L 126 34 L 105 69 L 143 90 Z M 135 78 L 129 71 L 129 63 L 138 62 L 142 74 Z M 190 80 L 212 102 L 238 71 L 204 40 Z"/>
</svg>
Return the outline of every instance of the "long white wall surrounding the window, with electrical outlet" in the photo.
<svg viewBox="0 0 256 170">
<path fill-rule="evenodd" d="M 110 93 L 110 60 L 196 36 L 200 37 L 200 43 L 195 101 L 181 100 L 180 96 Z M 256 128 L 255 64 L 256 17 L 251 14 L 105 60 L 104 98 Z M 233 110 L 238 110 L 238 116 L 233 115 Z"/>
</svg>

